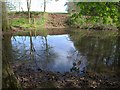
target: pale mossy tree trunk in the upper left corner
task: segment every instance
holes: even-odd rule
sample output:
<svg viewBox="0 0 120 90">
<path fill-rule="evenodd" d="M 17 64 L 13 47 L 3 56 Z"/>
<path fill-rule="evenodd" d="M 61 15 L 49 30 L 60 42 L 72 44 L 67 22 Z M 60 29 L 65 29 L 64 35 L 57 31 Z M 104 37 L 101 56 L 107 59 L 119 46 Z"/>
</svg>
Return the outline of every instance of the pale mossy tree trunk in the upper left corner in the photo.
<svg viewBox="0 0 120 90">
<path fill-rule="evenodd" d="M 8 22 L 6 3 L 5 2 L 0 3 L 2 3 L 2 31 L 9 31 L 10 26 Z"/>
</svg>

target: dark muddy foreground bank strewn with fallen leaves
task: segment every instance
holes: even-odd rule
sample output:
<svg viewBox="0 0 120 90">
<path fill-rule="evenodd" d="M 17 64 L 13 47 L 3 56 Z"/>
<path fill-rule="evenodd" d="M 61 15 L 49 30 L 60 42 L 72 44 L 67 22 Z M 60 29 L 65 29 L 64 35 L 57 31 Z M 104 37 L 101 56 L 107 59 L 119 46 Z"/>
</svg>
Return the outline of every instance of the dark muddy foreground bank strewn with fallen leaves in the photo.
<svg viewBox="0 0 120 90">
<path fill-rule="evenodd" d="M 86 71 L 60 73 L 33 69 L 24 63 L 13 64 L 13 71 L 23 88 L 120 88 L 120 77 Z"/>
</svg>

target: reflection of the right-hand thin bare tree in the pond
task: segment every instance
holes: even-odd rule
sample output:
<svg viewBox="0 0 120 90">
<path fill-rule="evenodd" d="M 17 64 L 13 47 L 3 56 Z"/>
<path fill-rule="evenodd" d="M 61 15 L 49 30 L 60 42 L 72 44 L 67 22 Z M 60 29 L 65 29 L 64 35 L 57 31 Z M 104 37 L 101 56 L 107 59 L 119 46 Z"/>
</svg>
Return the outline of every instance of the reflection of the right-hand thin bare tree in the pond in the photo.
<svg viewBox="0 0 120 90">
<path fill-rule="evenodd" d="M 50 46 L 48 43 L 47 36 L 48 36 L 47 30 L 43 29 L 42 36 L 41 36 L 41 39 L 42 39 L 41 46 L 43 46 L 41 56 L 43 60 L 42 67 L 44 67 L 44 69 L 49 69 L 46 66 L 50 64 L 51 62 L 54 62 L 55 58 L 57 57 L 56 53 L 53 50 L 54 47 Z"/>
</svg>

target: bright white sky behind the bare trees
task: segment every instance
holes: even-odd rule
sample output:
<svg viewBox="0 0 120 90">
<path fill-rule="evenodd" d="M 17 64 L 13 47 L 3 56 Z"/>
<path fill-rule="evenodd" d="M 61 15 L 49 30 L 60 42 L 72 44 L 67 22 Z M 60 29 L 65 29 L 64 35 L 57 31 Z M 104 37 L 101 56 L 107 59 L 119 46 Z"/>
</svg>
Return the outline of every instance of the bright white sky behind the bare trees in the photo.
<svg viewBox="0 0 120 90">
<path fill-rule="evenodd" d="M 27 4 L 26 0 L 9 0 L 14 1 L 12 2 L 14 5 L 17 6 L 17 11 L 19 11 L 19 4 L 17 2 L 21 2 L 21 7 L 24 9 L 24 11 L 27 11 Z M 44 10 L 44 0 L 31 0 L 31 11 L 43 11 Z M 47 0 L 46 3 L 46 12 L 67 12 L 66 7 L 64 6 L 66 3 L 66 0 Z M 20 9 L 21 10 L 21 9 Z"/>
</svg>

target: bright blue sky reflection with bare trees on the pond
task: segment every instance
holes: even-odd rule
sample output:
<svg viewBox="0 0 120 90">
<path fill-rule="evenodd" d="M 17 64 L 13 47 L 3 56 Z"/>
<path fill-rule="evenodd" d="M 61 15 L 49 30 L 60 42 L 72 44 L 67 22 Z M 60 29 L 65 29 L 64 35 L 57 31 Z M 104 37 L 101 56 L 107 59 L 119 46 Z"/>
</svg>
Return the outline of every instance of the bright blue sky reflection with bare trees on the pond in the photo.
<svg viewBox="0 0 120 90">
<path fill-rule="evenodd" d="M 78 61 L 81 55 L 68 38 L 67 34 L 14 36 L 11 39 L 14 59 L 29 61 L 34 69 L 41 68 L 61 73 L 70 71 L 72 63 Z"/>
</svg>

